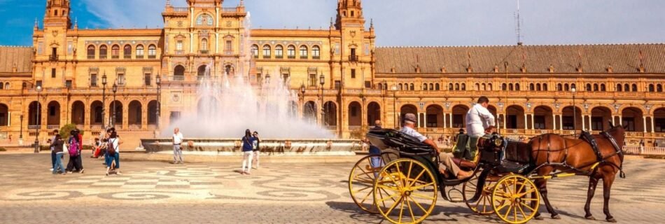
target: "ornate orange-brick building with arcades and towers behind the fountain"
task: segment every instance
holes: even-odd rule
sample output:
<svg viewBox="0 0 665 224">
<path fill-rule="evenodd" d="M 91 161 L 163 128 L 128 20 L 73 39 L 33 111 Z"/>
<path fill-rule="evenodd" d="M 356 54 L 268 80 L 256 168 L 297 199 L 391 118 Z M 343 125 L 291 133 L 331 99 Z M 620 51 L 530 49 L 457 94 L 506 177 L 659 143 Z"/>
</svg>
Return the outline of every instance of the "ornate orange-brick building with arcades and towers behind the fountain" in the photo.
<svg viewBox="0 0 665 224">
<path fill-rule="evenodd" d="M 225 74 L 288 80 L 297 116 L 344 138 L 374 120 L 395 127 L 402 113 L 449 137 L 484 95 L 514 138 L 612 121 L 630 144 L 665 139 L 665 44 L 377 48 L 360 0 L 339 0 L 327 29 L 250 29 L 242 1 L 168 2 L 163 29 L 79 29 L 68 0 L 48 0 L 33 46 L 0 48 L 0 143 L 67 123 L 88 137 L 109 124 L 153 137 L 195 113 L 202 78 Z"/>
</svg>

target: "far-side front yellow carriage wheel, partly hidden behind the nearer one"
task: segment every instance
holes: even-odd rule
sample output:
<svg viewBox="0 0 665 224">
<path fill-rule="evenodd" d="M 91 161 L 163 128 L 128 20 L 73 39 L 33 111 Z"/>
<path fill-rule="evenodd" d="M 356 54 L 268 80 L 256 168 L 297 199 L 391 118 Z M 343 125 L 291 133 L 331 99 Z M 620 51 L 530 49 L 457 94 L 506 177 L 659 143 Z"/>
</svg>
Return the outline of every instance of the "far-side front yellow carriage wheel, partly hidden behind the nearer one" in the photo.
<svg viewBox="0 0 665 224">
<path fill-rule="evenodd" d="M 475 214 L 482 216 L 494 214 L 492 207 L 492 190 L 494 190 L 494 186 L 496 185 L 496 178 L 493 176 L 486 178 L 484 180 L 485 184 L 482 188 L 482 191 L 479 195 L 475 195 L 476 190 L 478 189 L 478 176 L 479 172 L 477 172 L 477 174 L 475 174 L 472 179 L 464 182 L 462 186 L 462 196 L 464 198 L 464 203 Z"/>
</svg>

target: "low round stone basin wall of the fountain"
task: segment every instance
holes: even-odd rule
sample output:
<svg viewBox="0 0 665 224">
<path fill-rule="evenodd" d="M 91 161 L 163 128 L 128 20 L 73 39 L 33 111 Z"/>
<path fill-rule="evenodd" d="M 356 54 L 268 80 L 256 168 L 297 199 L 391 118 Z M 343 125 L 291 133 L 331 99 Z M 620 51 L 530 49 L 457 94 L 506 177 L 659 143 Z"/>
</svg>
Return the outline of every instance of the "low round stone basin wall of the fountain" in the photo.
<svg viewBox="0 0 665 224">
<path fill-rule="evenodd" d="M 191 143 L 191 144 L 190 144 Z M 172 139 L 141 139 L 147 153 L 173 151 Z M 183 152 L 193 155 L 240 155 L 240 139 L 185 139 Z M 353 139 L 261 139 L 268 155 L 356 155 L 362 144 Z"/>
</svg>

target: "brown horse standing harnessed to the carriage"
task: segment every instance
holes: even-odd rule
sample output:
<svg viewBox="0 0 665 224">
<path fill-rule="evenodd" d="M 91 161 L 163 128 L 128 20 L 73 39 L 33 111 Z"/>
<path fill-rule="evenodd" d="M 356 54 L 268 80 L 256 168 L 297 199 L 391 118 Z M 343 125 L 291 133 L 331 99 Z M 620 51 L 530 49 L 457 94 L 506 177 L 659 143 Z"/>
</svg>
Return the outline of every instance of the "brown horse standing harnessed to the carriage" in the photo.
<svg viewBox="0 0 665 224">
<path fill-rule="evenodd" d="M 574 172 L 578 175 L 589 176 L 589 189 L 587 191 L 587 203 L 584 204 L 584 215 L 587 219 L 595 219 L 589 211 L 591 198 L 596 192 L 596 185 L 599 179 L 603 179 L 603 197 L 605 199 L 603 212 L 605 220 L 615 223 L 615 218 L 610 215 L 610 188 L 615 180 L 617 172 L 620 171 L 623 163 L 623 154 L 617 152 L 617 147 L 624 144 L 624 127 L 614 127 L 611 123 L 610 130 L 605 131 L 611 138 L 604 134 L 594 134 L 598 145 L 598 151 L 601 153 L 602 161 L 596 164 L 598 157 L 588 141 L 582 139 L 570 139 L 561 137 L 558 134 L 542 134 L 529 141 L 531 146 L 531 156 L 535 166 L 544 165 L 535 172 L 538 176 L 549 175 L 555 170 L 564 172 Z M 614 143 L 612 143 L 614 140 Z M 619 149 L 620 150 L 620 149 Z M 571 168 L 574 168 L 571 170 Z M 547 211 L 552 218 L 559 219 L 559 214 L 554 211 L 552 205 L 547 199 L 547 179 L 538 179 L 535 185 L 540 191 Z M 535 215 L 541 218 L 540 213 Z"/>
</svg>

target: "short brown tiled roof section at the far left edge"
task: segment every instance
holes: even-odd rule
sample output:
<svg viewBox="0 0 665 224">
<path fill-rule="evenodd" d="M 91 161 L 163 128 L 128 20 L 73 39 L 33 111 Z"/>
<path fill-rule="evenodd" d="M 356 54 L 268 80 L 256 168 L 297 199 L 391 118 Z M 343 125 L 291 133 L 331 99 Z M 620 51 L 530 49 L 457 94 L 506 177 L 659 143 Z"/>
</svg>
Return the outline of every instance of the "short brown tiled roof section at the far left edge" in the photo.
<svg viewBox="0 0 665 224">
<path fill-rule="evenodd" d="M 32 48 L 0 46 L 0 73 L 32 73 Z"/>
</svg>

